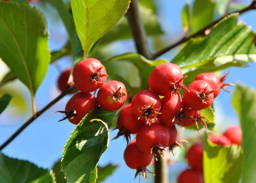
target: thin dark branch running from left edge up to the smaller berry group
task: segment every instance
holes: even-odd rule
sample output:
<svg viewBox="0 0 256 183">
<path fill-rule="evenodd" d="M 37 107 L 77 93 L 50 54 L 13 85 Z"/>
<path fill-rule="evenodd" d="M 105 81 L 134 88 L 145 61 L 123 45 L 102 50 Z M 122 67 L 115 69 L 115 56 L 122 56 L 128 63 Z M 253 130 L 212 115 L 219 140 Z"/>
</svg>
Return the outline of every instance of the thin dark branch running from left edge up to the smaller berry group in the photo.
<svg viewBox="0 0 256 183">
<path fill-rule="evenodd" d="M 47 104 L 43 109 L 41 109 L 41 111 L 36 112 L 35 115 L 33 115 L 32 117 L 30 117 L 28 119 L 28 121 L 26 121 L 14 134 L 12 134 L 12 136 L 10 138 L 7 139 L 6 142 L 4 142 L 1 146 L 0 146 L 0 151 L 4 149 L 4 147 L 6 147 L 13 139 L 15 139 L 27 126 L 29 126 L 30 123 L 32 123 L 35 119 L 37 119 L 37 117 L 39 117 L 43 112 L 45 112 L 47 109 L 49 109 L 52 105 L 54 105 L 56 102 L 58 102 L 59 100 L 61 100 L 61 98 L 63 98 L 66 94 L 70 93 L 71 91 L 73 91 L 75 89 L 75 87 L 67 87 L 66 90 L 64 90 L 61 94 L 59 94 L 58 97 L 56 97 L 54 100 L 52 100 L 49 104 Z"/>
</svg>

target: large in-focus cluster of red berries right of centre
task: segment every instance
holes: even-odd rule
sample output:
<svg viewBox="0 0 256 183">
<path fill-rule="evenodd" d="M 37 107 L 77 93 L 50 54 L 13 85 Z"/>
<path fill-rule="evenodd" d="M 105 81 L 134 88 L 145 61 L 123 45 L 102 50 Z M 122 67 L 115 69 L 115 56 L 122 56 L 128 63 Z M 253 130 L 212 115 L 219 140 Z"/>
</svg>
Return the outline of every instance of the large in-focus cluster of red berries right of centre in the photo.
<svg viewBox="0 0 256 183">
<path fill-rule="evenodd" d="M 180 146 L 175 124 L 182 127 L 195 124 L 199 129 L 198 123 L 202 123 L 207 129 L 205 120 L 208 119 L 200 110 L 211 106 L 220 89 L 226 90 L 225 86 L 232 85 L 224 83 L 226 76 L 218 78 L 213 73 L 202 73 L 186 87 L 183 85 L 186 76 L 176 64 L 163 63 L 153 69 L 149 75 L 150 90 L 135 94 L 117 120 L 117 137 L 124 135 L 129 143 L 130 135 L 137 134 L 124 152 L 126 164 L 137 169 L 136 175 L 146 177 L 146 166 L 153 155 L 157 160 L 164 156 L 166 147 L 172 152 Z M 185 90 L 183 98 L 179 93 L 181 89 Z"/>
</svg>

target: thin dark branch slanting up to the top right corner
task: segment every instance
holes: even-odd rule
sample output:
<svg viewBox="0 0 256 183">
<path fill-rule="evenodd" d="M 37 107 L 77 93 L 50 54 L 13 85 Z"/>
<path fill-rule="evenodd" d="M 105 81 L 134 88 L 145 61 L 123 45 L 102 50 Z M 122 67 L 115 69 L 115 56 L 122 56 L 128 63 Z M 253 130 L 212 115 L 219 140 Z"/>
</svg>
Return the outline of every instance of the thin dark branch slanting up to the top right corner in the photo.
<svg viewBox="0 0 256 183">
<path fill-rule="evenodd" d="M 234 12 L 234 13 L 239 13 L 239 14 L 243 14 L 247 11 L 250 11 L 250 10 L 256 10 L 256 0 L 253 0 L 252 4 L 249 5 L 248 7 L 240 10 L 240 11 L 237 11 L 237 12 Z M 230 15 L 230 14 L 228 14 Z M 227 16 L 228 16 L 227 15 Z M 153 54 L 153 56 L 151 57 L 151 59 L 156 59 L 157 57 L 163 55 L 164 53 L 170 51 L 172 48 L 175 48 L 176 46 L 180 45 L 180 44 L 183 44 L 184 42 L 187 42 L 189 41 L 191 38 L 194 38 L 194 37 L 197 37 L 197 36 L 200 36 L 200 35 L 204 35 L 205 31 L 209 28 L 211 28 L 212 26 L 214 26 L 216 23 L 218 23 L 220 20 L 222 20 L 223 18 L 225 18 L 226 16 L 220 18 L 220 19 L 217 19 L 215 22 L 212 22 L 211 24 L 209 24 L 208 26 L 204 27 L 203 29 L 199 30 L 197 33 L 194 33 L 192 34 L 191 36 L 189 37 L 183 37 L 180 41 L 174 43 L 174 44 L 171 44 L 169 46 L 167 46 L 166 48 L 164 49 L 161 49 L 160 51 L 156 52 L 155 54 Z"/>
</svg>

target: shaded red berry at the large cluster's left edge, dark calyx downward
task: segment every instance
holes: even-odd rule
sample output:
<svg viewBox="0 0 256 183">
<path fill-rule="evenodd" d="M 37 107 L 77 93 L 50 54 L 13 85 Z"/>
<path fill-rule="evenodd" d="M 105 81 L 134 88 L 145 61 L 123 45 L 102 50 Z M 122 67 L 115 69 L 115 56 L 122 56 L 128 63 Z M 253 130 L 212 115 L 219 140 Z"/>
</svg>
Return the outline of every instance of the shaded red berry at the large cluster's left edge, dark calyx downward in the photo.
<svg viewBox="0 0 256 183">
<path fill-rule="evenodd" d="M 127 143 L 131 139 L 130 134 L 136 134 L 139 129 L 146 123 L 142 120 L 138 120 L 138 117 L 134 116 L 132 113 L 131 104 L 125 106 L 120 111 L 120 114 L 117 119 L 117 129 L 119 130 L 117 136 L 114 139 L 117 139 L 121 135 L 124 135 Z"/>
</svg>

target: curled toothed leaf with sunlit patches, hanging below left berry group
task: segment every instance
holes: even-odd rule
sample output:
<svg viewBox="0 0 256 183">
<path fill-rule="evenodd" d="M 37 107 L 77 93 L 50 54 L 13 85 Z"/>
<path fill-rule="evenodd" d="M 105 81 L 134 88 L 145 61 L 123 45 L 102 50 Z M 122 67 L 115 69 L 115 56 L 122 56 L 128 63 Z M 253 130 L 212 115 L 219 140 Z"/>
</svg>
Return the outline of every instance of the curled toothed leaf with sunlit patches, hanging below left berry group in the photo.
<svg viewBox="0 0 256 183">
<path fill-rule="evenodd" d="M 116 115 L 116 111 L 97 108 L 77 125 L 62 152 L 61 171 L 65 173 L 67 182 L 95 183 L 96 166 L 107 149 L 108 131 Z"/>
</svg>

